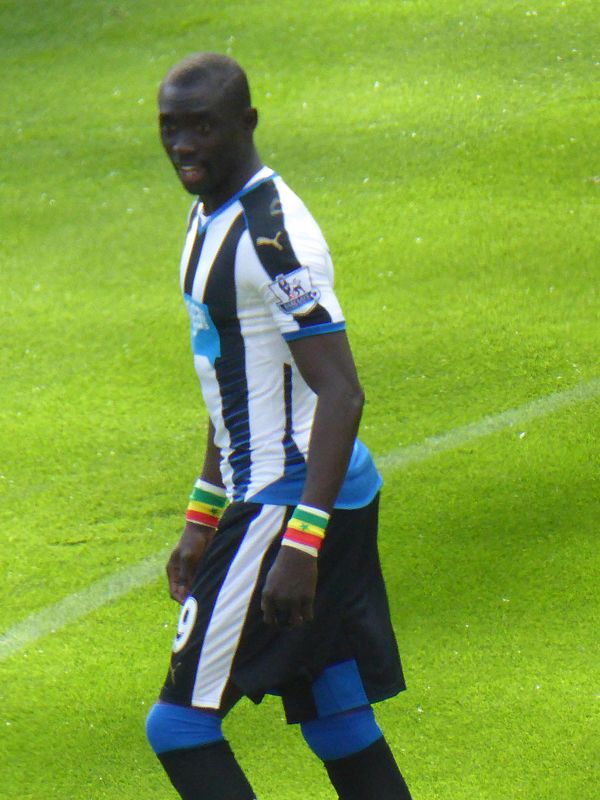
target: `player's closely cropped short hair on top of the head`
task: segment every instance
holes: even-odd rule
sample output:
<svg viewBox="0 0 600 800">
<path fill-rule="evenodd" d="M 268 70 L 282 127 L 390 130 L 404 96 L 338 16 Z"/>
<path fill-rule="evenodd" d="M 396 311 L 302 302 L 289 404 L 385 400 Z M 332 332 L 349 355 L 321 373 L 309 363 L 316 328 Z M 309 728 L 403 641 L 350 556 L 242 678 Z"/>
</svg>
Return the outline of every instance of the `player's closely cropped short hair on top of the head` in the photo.
<svg viewBox="0 0 600 800">
<path fill-rule="evenodd" d="M 161 90 L 169 83 L 181 87 L 208 82 L 221 92 L 235 110 L 250 108 L 250 87 L 246 73 L 233 58 L 220 53 L 192 53 L 165 75 Z"/>
</svg>

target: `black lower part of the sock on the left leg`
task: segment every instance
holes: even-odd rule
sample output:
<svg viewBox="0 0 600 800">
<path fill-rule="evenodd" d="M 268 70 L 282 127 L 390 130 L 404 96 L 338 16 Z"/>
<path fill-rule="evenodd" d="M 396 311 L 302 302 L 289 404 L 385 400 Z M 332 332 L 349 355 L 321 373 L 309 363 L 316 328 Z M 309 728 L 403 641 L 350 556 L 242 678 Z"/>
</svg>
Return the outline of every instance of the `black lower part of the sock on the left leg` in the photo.
<svg viewBox="0 0 600 800">
<path fill-rule="evenodd" d="M 228 742 L 159 753 L 183 800 L 256 800 Z"/>
</svg>

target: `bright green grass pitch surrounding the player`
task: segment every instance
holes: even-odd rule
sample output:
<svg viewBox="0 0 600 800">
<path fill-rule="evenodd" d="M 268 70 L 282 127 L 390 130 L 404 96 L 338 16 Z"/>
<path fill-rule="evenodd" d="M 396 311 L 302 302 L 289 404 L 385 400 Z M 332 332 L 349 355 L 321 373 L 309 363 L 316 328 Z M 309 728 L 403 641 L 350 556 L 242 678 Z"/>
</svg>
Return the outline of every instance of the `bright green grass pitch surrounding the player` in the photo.
<svg viewBox="0 0 600 800">
<path fill-rule="evenodd" d="M 383 457 L 600 375 L 594 5 L 0 3 L 0 631 L 172 544 L 199 466 L 168 67 L 246 67 Z M 415 800 L 598 797 L 599 403 L 386 468 L 409 690 L 378 716 Z M 143 722 L 175 618 L 157 578 L 0 651 L 3 798 L 174 797 Z M 333 798 L 277 701 L 226 728 L 261 800 Z"/>
</svg>

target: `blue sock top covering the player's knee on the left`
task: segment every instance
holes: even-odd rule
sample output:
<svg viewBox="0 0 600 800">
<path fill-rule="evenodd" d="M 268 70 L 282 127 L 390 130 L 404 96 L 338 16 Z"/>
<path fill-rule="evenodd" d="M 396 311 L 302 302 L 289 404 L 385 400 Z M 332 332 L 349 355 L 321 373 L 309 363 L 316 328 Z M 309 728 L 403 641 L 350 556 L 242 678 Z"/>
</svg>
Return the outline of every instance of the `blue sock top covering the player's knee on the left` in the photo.
<svg viewBox="0 0 600 800">
<path fill-rule="evenodd" d="M 223 740 L 219 717 L 196 708 L 161 702 L 152 706 L 146 718 L 146 736 L 157 755 Z"/>
</svg>

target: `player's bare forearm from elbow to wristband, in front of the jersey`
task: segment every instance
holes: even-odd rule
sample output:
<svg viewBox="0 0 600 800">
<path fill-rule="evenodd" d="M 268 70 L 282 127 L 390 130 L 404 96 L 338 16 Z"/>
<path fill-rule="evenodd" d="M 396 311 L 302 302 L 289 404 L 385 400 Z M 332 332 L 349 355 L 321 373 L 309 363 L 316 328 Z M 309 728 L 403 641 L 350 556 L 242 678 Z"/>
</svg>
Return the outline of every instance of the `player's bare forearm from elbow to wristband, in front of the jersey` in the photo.
<svg viewBox="0 0 600 800">
<path fill-rule="evenodd" d="M 364 405 L 358 385 L 329 386 L 318 396 L 302 503 L 330 512 L 346 476 Z"/>
</svg>

